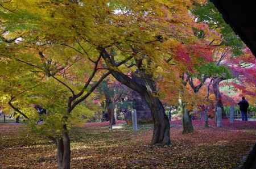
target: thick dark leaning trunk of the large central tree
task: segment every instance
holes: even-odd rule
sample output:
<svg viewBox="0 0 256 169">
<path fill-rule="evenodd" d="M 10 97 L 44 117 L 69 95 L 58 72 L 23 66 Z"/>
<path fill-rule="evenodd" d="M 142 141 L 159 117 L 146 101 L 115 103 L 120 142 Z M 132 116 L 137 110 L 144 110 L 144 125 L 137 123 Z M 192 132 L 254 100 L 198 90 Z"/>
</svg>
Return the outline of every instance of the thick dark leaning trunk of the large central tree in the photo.
<svg viewBox="0 0 256 169">
<path fill-rule="evenodd" d="M 152 81 L 152 77 L 147 76 L 145 71 L 139 70 L 139 77 L 142 77 L 142 82 L 135 82 L 121 71 L 113 69 L 115 65 L 106 49 L 101 49 L 101 56 L 104 58 L 111 74 L 117 81 L 137 91 L 146 100 L 148 107 L 151 109 L 152 119 L 154 121 L 154 132 L 151 143 L 153 145 L 170 145 L 170 122 L 164 112 L 161 101 L 156 96 L 155 82 Z M 142 67 L 141 65 L 142 61 L 137 62 L 138 69 Z"/>
</svg>

